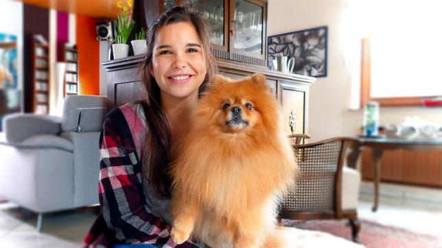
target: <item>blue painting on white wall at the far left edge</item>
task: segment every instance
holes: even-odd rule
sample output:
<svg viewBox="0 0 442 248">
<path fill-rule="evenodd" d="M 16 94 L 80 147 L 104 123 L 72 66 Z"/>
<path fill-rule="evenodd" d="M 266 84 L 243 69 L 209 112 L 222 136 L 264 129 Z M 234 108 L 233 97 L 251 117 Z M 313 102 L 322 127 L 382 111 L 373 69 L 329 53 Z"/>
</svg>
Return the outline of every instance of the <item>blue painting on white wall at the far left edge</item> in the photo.
<svg viewBox="0 0 442 248">
<path fill-rule="evenodd" d="M 18 88 L 17 36 L 0 34 L 0 88 Z"/>
</svg>

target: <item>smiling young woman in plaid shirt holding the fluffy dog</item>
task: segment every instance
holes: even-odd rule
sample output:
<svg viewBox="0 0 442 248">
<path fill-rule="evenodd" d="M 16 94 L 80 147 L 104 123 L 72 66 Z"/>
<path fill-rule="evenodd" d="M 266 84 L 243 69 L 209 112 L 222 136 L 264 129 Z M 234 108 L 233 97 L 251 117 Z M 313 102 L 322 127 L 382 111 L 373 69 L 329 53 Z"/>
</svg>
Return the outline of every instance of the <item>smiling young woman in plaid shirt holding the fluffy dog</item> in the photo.
<svg viewBox="0 0 442 248">
<path fill-rule="evenodd" d="M 176 6 L 156 19 L 147 42 L 146 99 L 115 108 L 104 121 L 102 214 L 85 246 L 205 247 L 191 240 L 177 246 L 170 238 L 168 171 L 170 147 L 187 129 L 199 93 L 213 74 L 209 26 L 191 5 Z"/>
</svg>

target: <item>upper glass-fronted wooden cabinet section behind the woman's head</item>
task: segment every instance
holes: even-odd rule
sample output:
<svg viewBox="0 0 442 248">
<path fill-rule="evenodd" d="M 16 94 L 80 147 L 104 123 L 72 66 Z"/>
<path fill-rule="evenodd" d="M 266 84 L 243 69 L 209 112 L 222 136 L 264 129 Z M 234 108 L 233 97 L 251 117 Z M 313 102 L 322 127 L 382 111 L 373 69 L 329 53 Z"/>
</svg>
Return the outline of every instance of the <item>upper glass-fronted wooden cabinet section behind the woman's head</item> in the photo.
<svg viewBox="0 0 442 248">
<path fill-rule="evenodd" d="M 181 2 L 183 0 L 135 1 L 132 15 L 137 23 L 148 26 L 159 14 Z M 211 52 L 216 58 L 267 65 L 266 0 L 192 2 L 211 25 Z"/>
</svg>

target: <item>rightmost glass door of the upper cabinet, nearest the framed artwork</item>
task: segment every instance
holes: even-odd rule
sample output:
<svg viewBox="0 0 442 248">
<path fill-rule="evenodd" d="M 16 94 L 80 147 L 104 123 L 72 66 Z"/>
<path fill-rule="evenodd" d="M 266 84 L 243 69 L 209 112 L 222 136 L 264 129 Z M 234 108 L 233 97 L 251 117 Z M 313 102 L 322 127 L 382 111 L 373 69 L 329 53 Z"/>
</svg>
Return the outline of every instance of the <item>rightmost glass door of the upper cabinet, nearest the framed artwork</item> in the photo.
<svg viewBox="0 0 442 248">
<path fill-rule="evenodd" d="M 235 0 L 233 49 L 263 53 L 263 13 L 264 7 L 253 1 Z"/>
</svg>

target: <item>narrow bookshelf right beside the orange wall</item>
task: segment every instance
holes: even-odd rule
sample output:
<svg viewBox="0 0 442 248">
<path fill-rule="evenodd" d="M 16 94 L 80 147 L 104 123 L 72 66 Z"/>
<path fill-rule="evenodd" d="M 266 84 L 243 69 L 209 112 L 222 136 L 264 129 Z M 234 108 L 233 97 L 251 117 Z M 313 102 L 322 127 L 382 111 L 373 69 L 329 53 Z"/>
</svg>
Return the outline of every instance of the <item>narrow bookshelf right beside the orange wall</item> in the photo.
<svg viewBox="0 0 442 248">
<path fill-rule="evenodd" d="M 65 87 L 63 95 L 78 95 L 78 49 L 77 45 L 66 43 L 63 47 L 63 57 L 66 63 Z"/>
</svg>

